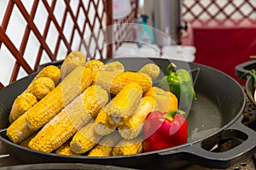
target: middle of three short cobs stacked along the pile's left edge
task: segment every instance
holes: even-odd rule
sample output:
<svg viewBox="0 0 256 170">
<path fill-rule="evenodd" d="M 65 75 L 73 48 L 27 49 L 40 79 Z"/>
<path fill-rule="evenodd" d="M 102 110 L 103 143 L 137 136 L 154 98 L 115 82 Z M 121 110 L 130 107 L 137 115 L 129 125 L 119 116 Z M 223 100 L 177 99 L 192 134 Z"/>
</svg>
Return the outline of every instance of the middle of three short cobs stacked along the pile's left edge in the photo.
<svg viewBox="0 0 256 170">
<path fill-rule="evenodd" d="M 34 94 L 37 99 L 43 99 L 55 88 L 55 82 L 48 77 L 38 77 L 32 82 L 32 85 L 26 89 L 26 92 Z"/>
</svg>

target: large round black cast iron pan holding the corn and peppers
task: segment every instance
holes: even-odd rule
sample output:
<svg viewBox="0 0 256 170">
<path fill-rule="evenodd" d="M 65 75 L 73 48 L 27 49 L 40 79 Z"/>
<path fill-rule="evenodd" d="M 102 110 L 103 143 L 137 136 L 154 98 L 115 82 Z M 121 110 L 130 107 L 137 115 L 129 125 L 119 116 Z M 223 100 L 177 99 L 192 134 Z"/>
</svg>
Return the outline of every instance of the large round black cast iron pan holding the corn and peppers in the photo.
<svg viewBox="0 0 256 170">
<path fill-rule="evenodd" d="M 107 62 L 109 59 L 104 60 Z M 122 58 L 126 70 L 137 71 L 144 64 L 154 62 L 166 74 L 167 59 Z M 226 168 L 256 152 L 256 133 L 241 124 L 246 97 L 240 84 L 221 71 L 206 65 L 172 60 L 177 68 L 200 69 L 195 82 L 197 99 L 189 116 L 189 141 L 187 144 L 166 150 L 141 153 L 133 156 L 59 156 L 43 153 L 13 144 L 3 130 L 0 140 L 4 147 L 25 163 L 69 162 L 89 163 L 132 168 L 183 167 L 189 163 L 205 167 Z M 56 62 L 55 65 L 61 65 Z M 10 107 L 35 74 L 14 82 L 0 91 L 0 128 L 8 127 Z"/>
</svg>

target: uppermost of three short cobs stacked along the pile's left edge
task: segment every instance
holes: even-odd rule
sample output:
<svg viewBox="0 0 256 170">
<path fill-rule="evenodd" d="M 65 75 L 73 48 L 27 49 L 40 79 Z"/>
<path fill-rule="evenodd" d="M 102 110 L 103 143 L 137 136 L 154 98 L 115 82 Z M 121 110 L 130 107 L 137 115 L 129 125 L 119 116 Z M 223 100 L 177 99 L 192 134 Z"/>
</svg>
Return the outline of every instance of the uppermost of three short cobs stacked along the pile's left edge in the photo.
<svg viewBox="0 0 256 170">
<path fill-rule="evenodd" d="M 33 81 L 39 77 L 48 77 L 56 83 L 61 77 L 61 71 L 55 65 L 48 65 L 38 72 L 38 75 L 34 77 Z"/>
</svg>

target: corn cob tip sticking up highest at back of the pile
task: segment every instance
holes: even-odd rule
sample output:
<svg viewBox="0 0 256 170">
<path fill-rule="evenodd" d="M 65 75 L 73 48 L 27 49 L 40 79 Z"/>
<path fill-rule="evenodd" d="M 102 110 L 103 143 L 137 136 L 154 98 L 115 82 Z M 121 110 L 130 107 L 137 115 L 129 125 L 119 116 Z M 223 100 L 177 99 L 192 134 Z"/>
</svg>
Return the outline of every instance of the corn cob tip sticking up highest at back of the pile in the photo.
<svg viewBox="0 0 256 170">
<path fill-rule="evenodd" d="M 80 51 L 73 51 L 67 55 L 61 65 L 61 79 L 63 80 L 69 73 L 71 73 L 79 65 L 85 64 L 85 56 Z"/>
</svg>

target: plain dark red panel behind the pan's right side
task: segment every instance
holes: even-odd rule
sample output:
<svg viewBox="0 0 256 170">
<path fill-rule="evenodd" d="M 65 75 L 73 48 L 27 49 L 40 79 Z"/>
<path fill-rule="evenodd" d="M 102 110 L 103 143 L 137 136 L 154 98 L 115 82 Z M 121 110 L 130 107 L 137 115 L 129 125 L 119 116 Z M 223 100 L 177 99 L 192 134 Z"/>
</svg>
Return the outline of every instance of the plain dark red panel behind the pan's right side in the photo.
<svg viewBox="0 0 256 170">
<path fill-rule="evenodd" d="M 195 62 L 209 65 L 238 80 L 235 67 L 256 55 L 256 27 L 195 27 Z"/>
</svg>

